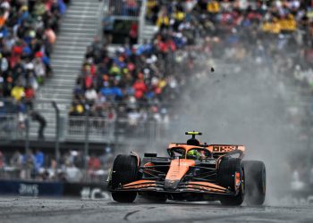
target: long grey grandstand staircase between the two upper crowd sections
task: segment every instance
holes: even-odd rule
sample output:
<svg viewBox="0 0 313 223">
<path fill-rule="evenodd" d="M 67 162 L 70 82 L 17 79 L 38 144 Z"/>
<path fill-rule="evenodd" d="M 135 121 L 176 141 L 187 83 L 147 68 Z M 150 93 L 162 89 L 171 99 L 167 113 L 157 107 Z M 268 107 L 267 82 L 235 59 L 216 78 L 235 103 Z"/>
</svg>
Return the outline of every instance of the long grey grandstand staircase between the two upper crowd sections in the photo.
<svg viewBox="0 0 313 223">
<path fill-rule="evenodd" d="M 55 139 L 55 109 L 51 103 L 55 101 L 60 115 L 65 117 L 72 102 L 72 89 L 80 72 L 86 47 L 97 36 L 100 28 L 100 1 L 72 1 L 60 24 L 60 31 L 51 56 L 53 77 L 47 78 L 44 86 L 38 89 L 35 110 L 47 120 L 45 136 L 47 140 Z M 45 101 L 45 102 L 40 102 Z M 63 124 L 63 121 L 61 121 Z M 65 127 L 65 125 L 64 125 Z M 37 138 L 38 123 L 30 121 L 30 138 Z"/>
</svg>

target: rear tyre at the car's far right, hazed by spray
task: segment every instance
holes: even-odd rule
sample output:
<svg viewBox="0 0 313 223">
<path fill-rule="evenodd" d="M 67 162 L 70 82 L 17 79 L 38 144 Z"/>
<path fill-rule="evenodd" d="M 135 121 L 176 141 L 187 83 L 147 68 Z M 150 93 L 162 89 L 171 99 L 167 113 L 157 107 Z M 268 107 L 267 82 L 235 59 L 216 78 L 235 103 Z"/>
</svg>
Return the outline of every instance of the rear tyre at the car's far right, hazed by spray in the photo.
<svg viewBox="0 0 313 223">
<path fill-rule="evenodd" d="M 262 205 L 266 199 L 266 166 L 263 161 L 243 161 L 246 169 L 247 202 Z"/>
</svg>

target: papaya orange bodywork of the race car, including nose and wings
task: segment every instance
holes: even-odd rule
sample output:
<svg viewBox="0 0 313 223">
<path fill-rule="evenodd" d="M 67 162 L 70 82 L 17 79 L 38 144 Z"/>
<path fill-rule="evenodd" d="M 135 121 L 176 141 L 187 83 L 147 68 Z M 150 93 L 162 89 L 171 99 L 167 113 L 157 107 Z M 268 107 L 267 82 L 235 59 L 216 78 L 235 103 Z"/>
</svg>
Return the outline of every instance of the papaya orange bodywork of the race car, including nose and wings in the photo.
<svg viewBox="0 0 313 223">
<path fill-rule="evenodd" d="M 169 149 L 181 147 L 185 150 L 183 159 L 172 160 L 169 169 L 166 172 L 164 181 L 140 179 L 134 182 L 121 186 L 122 190 L 137 190 L 137 191 L 157 191 L 157 192 L 200 192 L 206 194 L 231 194 L 229 188 L 216 185 L 214 183 L 204 181 L 182 181 L 191 167 L 196 166 L 196 161 L 185 159 L 186 154 L 195 148 L 207 150 L 210 153 L 217 153 L 216 169 L 218 169 L 219 162 L 225 153 L 240 151 L 245 152 L 243 145 L 186 145 L 186 144 L 170 144 Z M 241 153 L 241 154 L 242 154 Z M 136 155 L 136 153 L 134 153 Z M 151 161 L 146 162 L 143 167 L 144 173 L 151 174 L 154 171 L 155 164 Z M 157 165 L 156 165 L 157 166 Z M 235 173 L 235 188 L 237 189 L 241 184 L 240 173 Z M 167 185 L 166 185 L 167 184 Z"/>
</svg>

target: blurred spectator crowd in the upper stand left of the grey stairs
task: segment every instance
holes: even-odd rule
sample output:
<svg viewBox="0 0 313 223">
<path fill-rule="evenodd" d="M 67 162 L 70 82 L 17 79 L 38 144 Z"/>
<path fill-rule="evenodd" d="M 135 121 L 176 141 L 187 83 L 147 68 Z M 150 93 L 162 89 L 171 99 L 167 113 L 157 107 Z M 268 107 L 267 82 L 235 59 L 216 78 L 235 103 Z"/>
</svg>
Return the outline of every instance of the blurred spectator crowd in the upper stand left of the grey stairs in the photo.
<svg viewBox="0 0 313 223">
<path fill-rule="evenodd" d="M 52 75 L 50 56 L 65 10 L 63 0 L 0 1 L 0 98 L 18 105 L 1 103 L 2 112 L 31 108 L 38 87 Z"/>
</svg>

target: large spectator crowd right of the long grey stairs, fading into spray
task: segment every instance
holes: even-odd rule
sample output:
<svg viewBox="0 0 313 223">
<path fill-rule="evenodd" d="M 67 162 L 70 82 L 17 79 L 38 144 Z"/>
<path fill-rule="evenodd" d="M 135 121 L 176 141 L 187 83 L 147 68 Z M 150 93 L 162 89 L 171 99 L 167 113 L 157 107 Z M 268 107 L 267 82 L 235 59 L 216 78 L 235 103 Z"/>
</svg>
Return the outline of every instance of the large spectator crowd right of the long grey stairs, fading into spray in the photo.
<svg viewBox="0 0 313 223">
<path fill-rule="evenodd" d="M 109 51 L 109 31 L 95 38 L 73 91 L 70 114 L 130 120 L 173 118 L 174 103 L 214 60 L 257 64 L 312 84 L 312 1 L 148 0 L 146 23 L 157 34 Z M 110 12 L 106 21 L 114 12 Z M 107 29 L 110 27 L 110 29 Z M 211 64 L 208 64 L 211 63 Z"/>
</svg>

